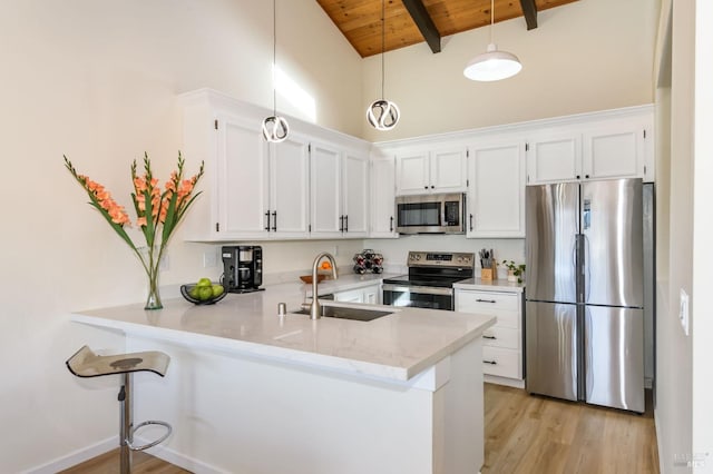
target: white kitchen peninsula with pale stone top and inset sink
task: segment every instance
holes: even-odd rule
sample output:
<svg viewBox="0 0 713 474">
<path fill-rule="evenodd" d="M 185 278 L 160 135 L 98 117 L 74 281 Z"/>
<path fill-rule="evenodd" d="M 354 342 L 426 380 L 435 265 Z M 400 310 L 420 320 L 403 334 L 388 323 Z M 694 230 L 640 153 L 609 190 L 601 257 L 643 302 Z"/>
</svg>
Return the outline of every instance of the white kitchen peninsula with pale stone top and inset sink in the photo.
<svg viewBox="0 0 713 474">
<path fill-rule="evenodd" d="M 392 313 L 371 322 L 311 320 L 292 314 L 303 292 L 282 284 L 216 305 L 71 318 L 124 333 L 127 352 L 172 357 L 163 379 L 137 374 L 136 419 L 170 423 L 154 454 L 193 472 L 478 472 L 481 335 L 495 317 L 383 306 Z"/>
</svg>

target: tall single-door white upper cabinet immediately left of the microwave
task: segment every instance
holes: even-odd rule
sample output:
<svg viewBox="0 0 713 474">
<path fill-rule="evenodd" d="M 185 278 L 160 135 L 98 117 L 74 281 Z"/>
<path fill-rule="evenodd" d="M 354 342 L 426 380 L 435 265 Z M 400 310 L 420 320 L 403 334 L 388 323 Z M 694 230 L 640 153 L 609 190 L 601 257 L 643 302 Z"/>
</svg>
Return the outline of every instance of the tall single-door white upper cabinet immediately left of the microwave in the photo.
<svg viewBox="0 0 713 474">
<path fill-rule="evenodd" d="M 398 237 L 395 231 L 395 164 L 393 156 L 371 160 L 370 237 Z"/>
</svg>

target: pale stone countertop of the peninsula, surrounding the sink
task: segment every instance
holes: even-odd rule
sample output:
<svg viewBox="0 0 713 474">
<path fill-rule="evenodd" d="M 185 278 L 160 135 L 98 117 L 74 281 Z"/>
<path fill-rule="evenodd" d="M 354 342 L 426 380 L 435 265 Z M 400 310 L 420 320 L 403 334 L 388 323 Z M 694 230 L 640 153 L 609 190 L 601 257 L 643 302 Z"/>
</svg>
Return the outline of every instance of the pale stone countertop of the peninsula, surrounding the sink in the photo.
<svg viewBox="0 0 713 474">
<path fill-rule="evenodd" d="M 348 275 L 321 283 L 319 293 L 368 286 L 381 278 L 383 275 Z M 332 302 L 325 304 L 384 308 L 393 314 L 371 322 L 311 320 L 291 314 L 300 308 L 304 292 L 305 285 L 297 282 L 271 285 L 264 292 L 228 294 L 214 305 L 173 298 L 165 299 L 158 310 L 135 304 L 77 312 L 71 319 L 129 336 L 395 382 L 409 381 L 480 337 L 496 322 L 491 315 Z M 277 316 L 279 303 L 286 303 L 286 316 Z"/>
</svg>

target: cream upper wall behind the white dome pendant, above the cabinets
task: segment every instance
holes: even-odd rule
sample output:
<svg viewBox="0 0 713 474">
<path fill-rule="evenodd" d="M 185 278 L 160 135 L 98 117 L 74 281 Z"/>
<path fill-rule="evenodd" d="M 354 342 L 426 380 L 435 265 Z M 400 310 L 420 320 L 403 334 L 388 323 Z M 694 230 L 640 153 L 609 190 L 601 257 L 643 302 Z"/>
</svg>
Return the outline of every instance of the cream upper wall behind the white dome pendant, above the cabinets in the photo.
<svg viewBox="0 0 713 474">
<path fill-rule="evenodd" d="M 385 96 L 401 109 L 392 131 L 364 121 L 364 138 L 385 141 L 651 103 L 660 0 L 580 0 L 525 20 L 496 23 L 495 41 L 518 56 L 522 71 L 504 81 L 475 82 L 462 70 L 485 52 L 489 29 L 445 38 L 433 55 L 426 43 L 385 55 Z M 388 32 L 387 32 L 388 34 Z M 381 58 L 364 61 L 363 110 L 381 96 Z"/>
</svg>

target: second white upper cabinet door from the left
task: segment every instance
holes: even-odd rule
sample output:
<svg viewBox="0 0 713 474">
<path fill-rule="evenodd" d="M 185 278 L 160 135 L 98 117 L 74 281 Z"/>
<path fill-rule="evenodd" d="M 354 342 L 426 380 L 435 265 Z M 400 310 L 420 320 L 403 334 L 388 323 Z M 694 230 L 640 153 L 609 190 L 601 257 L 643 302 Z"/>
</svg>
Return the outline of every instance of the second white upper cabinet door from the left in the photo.
<svg viewBox="0 0 713 474">
<path fill-rule="evenodd" d="M 297 134 L 270 148 L 271 237 L 309 236 L 309 169 L 306 139 Z M 246 178 L 250 179 L 250 178 Z"/>
</svg>

